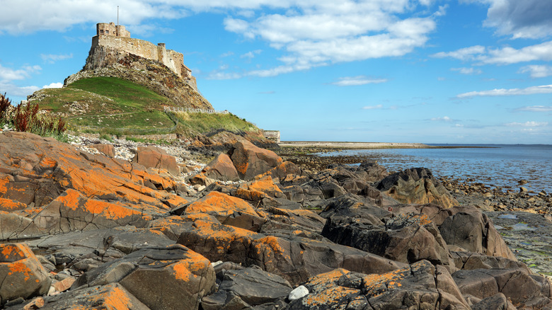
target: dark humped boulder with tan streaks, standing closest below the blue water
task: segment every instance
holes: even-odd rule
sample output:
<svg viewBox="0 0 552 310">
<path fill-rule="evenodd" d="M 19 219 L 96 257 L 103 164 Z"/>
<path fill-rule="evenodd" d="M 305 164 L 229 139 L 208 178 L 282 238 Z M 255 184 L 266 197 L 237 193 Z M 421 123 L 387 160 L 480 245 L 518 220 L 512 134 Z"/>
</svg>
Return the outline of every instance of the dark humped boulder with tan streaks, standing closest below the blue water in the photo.
<svg viewBox="0 0 552 310">
<path fill-rule="evenodd" d="M 412 168 L 393 173 L 375 185 L 378 190 L 402 203 L 433 203 L 446 208 L 459 205 L 427 168 Z"/>
</svg>

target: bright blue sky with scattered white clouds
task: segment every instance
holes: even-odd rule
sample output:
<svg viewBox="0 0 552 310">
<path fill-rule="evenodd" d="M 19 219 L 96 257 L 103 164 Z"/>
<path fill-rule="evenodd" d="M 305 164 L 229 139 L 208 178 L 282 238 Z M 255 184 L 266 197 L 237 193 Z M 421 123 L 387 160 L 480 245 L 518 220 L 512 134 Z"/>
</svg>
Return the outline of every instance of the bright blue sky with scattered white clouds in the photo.
<svg viewBox="0 0 552 310">
<path fill-rule="evenodd" d="M 283 140 L 552 144 L 548 0 L 0 0 L 0 91 L 61 86 L 117 6 Z"/>
</svg>

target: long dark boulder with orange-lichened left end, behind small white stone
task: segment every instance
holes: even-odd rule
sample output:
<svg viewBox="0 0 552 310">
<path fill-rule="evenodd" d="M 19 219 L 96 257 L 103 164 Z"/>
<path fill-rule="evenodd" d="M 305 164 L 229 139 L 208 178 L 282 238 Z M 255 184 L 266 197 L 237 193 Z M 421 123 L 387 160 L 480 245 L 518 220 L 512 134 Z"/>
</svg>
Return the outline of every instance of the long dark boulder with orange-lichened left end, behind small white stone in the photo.
<svg viewBox="0 0 552 310">
<path fill-rule="evenodd" d="M 184 215 L 183 215 L 184 216 Z M 386 272 L 403 264 L 348 246 L 299 236 L 277 237 L 222 225 L 206 214 L 186 214 L 178 243 L 209 260 L 258 265 L 293 285 L 335 268 Z"/>
</svg>

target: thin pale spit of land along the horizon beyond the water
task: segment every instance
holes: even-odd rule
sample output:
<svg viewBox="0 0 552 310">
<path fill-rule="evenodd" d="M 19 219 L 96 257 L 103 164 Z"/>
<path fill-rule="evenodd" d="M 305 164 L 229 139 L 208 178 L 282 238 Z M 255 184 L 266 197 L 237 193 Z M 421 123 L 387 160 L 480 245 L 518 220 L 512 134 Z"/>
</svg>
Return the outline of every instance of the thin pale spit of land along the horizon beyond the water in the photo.
<svg viewBox="0 0 552 310">
<path fill-rule="evenodd" d="M 323 142 L 323 141 L 282 141 L 280 147 L 316 147 L 319 149 L 459 149 L 491 148 L 492 146 L 444 144 L 430 145 L 423 143 L 391 142 Z"/>
</svg>

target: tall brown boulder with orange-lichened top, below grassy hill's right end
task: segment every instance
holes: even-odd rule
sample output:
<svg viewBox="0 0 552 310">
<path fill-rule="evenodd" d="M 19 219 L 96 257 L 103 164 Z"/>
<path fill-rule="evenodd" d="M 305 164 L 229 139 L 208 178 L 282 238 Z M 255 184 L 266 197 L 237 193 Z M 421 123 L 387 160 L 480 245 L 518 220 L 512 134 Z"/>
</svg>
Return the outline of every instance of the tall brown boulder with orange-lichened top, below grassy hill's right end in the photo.
<svg viewBox="0 0 552 310">
<path fill-rule="evenodd" d="M 282 163 L 282 158 L 273 151 L 256 147 L 248 141 L 236 142 L 228 152 L 232 163 L 243 180 L 251 180 Z"/>
</svg>

